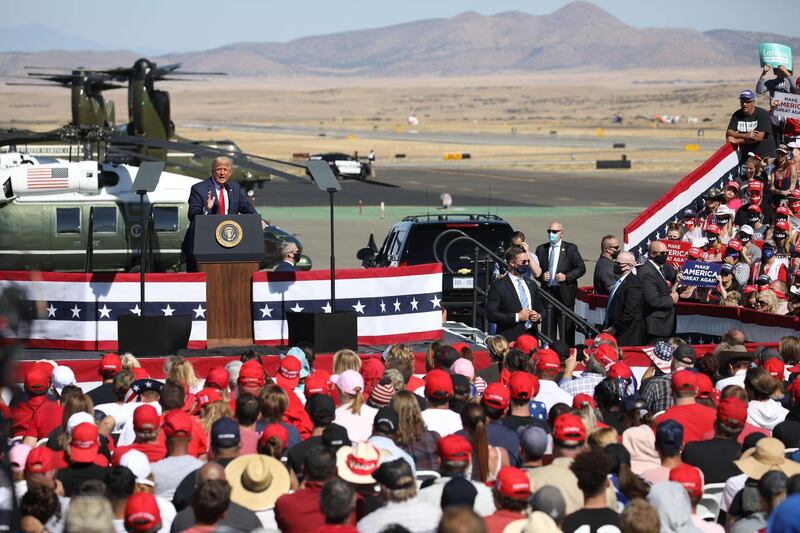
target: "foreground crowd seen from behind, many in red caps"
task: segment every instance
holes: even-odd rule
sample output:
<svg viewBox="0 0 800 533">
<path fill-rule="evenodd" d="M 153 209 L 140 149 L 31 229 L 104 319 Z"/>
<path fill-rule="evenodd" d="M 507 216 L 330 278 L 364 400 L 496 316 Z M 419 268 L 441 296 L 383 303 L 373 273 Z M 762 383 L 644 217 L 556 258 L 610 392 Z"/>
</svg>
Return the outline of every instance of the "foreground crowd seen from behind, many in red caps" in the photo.
<svg viewBox="0 0 800 533">
<path fill-rule="evenodd" d="M 86 390 L 40 361 L 0 405 L 0 506 L 31 533 L 800 531 L 800 339 L 744 343 L 660 340 L 638 377 L 607 333 L 580 367 L 528 334 L 489 337 L 482 368 L 434 342 L 424 374 L 403 344 L 204 379 L 109 353 Z"/>
</svg>

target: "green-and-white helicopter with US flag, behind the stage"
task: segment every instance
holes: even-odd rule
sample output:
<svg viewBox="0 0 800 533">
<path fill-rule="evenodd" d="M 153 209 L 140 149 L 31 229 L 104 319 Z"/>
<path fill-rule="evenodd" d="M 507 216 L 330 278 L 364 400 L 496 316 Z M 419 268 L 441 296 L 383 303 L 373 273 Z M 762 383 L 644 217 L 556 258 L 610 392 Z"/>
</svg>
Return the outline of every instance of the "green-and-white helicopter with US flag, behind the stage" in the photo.
<svg viewBox="0 0 800 533">
<path fill-rule="evenodd" d="M 102 148 L 98 149 L 99 157 L 89 149 L 84 153 L 88 157 L 76 161 L 14 151 L 17 145 L 34 142 L 72 142 L 84 149 Z M 98 127 L 65 126 L 42 134 L 0 132 L 0 146 L 11 148 L 0 153 L 0 269 L 131 272 L 144 268 L 147 272 L 169 272 L 185 268 L 180 247 L 189 227 L 187 199 L 192 185 L 200 180 L 175 172 L 162 173 L 157 189 L 145 198 L 149 231 L 142 232 L 139 197 L 131 190 L 138 166 L 103 160 L 113 151 L 114 143 L 126 142 L 148 146 L 149 141 Z M 176 143 L 160 141 L 155 147 L 169 150 L 172 144 Z M 175 148 L 193 149 L 205 158 L 227 155 L 208 146 L 177 144 Z M 234 164 L 241 163 L 234 158 Z M 307 182 L 280 169 L 260 166 L 250 158 L 244 159 L 244 164 Z M 142 265 L 139 249 L 145 233 L 150 236 L 144 246 L 151 251 L 152 262 Z M 292 241 L 302 250 L 296 237 L 277 226 L 267 226 L 263 235 L 262 268 L 280 262 L 284 242 Z M 297 266 L 308 270 L 311 260 L 303 256 Z"/>
</svg>

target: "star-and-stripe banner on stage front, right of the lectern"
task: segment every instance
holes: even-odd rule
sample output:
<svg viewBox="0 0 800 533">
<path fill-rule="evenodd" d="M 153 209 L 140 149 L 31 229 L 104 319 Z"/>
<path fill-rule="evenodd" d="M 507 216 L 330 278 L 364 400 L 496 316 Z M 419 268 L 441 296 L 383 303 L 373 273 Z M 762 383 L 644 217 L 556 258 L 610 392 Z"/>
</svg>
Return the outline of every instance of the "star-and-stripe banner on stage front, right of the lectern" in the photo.
<svg viewBox="0 0 800 533">
<path fill-rule="evenodd" d="M 336 309 L 358 314 L 359 344 L 442 338 L 442 266 L 336 271 Z M 286 314 L 332 311 L 330 271 L 253 275 L 257 344 L 286 344 Z"/>
</svg>

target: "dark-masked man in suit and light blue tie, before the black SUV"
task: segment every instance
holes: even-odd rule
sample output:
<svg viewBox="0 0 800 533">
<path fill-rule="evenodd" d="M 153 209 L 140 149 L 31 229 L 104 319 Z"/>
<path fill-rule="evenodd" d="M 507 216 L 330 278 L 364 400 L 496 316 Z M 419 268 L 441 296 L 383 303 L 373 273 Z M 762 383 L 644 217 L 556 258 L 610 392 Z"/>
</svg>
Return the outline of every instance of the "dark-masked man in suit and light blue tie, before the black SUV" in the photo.
<svg viewBox="0 0 800 533">
<path fill-rule="evenodd" d="M 544 303 L 539 288 L 525 274 L 530 270 L 530 258 L 522 246 L 511 246 L 505 253 L 508 274 L 494 280 L 489 287 L 486 316 L 497 324 L 497 334 L 509 341 L 526 331 L 535 335 L 542 321 Z"/>
</svg>

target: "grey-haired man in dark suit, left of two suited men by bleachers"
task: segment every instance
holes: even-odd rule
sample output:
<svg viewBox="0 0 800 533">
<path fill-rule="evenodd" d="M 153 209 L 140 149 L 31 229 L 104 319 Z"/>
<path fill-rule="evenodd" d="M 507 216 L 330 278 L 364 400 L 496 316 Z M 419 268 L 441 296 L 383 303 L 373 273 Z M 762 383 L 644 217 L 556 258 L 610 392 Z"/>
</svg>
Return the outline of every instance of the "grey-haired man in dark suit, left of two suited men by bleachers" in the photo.
<svg viewBox="0 0 800 533">
<path fill-rule="evenodd" d="M 620 252 L 614 259 L 614 274 L 619 279 L 611 287 L 603 331 L 614 335 L 620 346 L 644 344 L 644 290 L 635 264 L 636 258 L 630 252 Z"/>
</svg>

